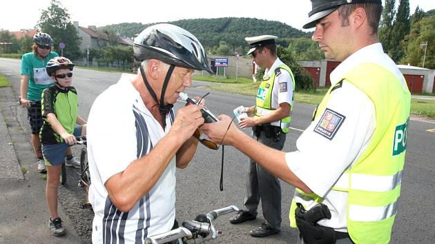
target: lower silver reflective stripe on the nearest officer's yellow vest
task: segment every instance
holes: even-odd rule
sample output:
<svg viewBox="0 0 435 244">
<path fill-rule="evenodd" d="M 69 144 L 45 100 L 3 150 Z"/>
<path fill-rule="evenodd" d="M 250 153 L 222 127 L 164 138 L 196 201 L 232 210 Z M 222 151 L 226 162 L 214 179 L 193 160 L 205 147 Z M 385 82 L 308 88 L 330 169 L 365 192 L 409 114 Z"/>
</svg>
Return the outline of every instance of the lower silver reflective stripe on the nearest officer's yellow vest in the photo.
<svg viewBox="0 0 435 244">
<path fill-rule="evenodd" d="M 369 222 L 382 221 L 392 217 L 397 212 L 397 201 L 383 207 L 367 207 L 360 205 L 349 205 L 349 220 Z"/>
</svg>

